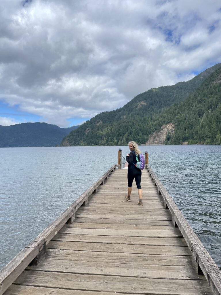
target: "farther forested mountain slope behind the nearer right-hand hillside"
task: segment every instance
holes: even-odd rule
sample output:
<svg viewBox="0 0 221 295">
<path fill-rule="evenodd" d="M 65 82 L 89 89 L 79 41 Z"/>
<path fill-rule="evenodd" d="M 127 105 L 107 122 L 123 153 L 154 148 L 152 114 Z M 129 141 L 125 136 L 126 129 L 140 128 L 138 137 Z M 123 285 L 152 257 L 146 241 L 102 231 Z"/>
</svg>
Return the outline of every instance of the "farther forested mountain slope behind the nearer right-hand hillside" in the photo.
<svg viewBox="0 0 221 295">
<path fill-rule="evenodd" d="M 145 144 L 149 135 L 161 129 L 162 112 L 187 99 L 220 66 L 221 63 L 214 65 L 189 81 L 152 88 L 138 94 L 125 106 L 88 120 L 64 137 L 61 145 L 126 145 L 130 140 Z M 168 119 L 173 122 L 171 117 Z M 170 140 L 168 134 L 167 142 Z"/>
</svg>

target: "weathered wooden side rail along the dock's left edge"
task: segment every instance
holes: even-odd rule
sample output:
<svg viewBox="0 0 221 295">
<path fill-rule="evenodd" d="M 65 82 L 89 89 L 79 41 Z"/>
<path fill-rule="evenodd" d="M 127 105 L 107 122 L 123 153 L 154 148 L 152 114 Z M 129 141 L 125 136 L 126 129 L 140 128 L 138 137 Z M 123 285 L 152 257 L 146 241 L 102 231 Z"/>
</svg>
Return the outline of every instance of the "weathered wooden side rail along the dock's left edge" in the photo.
<svg viewBox="0 0 221 295">
<path fill-rule="evenodd" d="M 98 186 L 104 184 L 104 181 L 116 169 L 113 165 L 103 174 L 92 186 L 90 186 L 78 199 L 76 199 L 54 222 L 52 222 L 43 232 L 35 237 L 22 251 L 18 253 L 2 270 L 0 271 L 0 295 L 9 288 L 16 278 L 31 265 L 38 265 L 46 253 L 46 245 L 64 226 L 65 223 L 72 223 L 75 219 L 75 212 L 80 206 L 88 204 L 88 197 L 98 191 Z"/>
</svg>

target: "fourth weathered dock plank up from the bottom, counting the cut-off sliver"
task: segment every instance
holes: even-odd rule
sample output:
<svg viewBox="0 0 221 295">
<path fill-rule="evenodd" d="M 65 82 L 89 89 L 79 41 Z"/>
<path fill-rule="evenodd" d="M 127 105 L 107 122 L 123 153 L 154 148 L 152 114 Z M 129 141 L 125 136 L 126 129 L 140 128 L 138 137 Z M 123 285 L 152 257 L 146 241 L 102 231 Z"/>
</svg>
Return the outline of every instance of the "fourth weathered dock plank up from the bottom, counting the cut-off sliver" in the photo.
<svg viewBox="0 0 221 295">
<path fill-rule="evenodd" d="M 73 261 L 97 261 L 101 264 L 107 263 L 128 263 L 136 265 L 166 265 L 166 266 L 192 266 L 191 256 L 184 255 L 150 255 L 134 253 L 113 253 L 97 251 L 77 251 L 65 249 L 47 249 L 47 258 L 56 260 Z"/>
</svg>

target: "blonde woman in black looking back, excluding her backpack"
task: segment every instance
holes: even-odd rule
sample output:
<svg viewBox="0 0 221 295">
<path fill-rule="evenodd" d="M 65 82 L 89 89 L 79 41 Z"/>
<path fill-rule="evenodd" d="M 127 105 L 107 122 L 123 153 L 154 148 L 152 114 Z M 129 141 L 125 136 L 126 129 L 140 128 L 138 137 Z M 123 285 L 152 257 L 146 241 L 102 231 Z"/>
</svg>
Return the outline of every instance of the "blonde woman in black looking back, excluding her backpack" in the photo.
<svg viewBox="0 0 221 295">
<path fill-rule="evenodd" d="M 127 179 L 128 179 L 128 194 L 125 196 L 127 201 L 131 201 L 131 191 L 132 191 L 132 183 L 133 179 L 135 178 L 137 189 L 138 189 L 138 195 L 139 195 L 139 202 L 138 205 L 143 206 L 142 202 L 142 189 L 141 189 L 141 170 L 136 168 L 136 155 L 140 154 L 141 151 L 138 149 L 138 145 L 135 141 L 129 142 L 129 149 L 130 154 L 126 156 L 126 161 L 128 162 L 128 173 L 127 173 Z"/>
</svg>

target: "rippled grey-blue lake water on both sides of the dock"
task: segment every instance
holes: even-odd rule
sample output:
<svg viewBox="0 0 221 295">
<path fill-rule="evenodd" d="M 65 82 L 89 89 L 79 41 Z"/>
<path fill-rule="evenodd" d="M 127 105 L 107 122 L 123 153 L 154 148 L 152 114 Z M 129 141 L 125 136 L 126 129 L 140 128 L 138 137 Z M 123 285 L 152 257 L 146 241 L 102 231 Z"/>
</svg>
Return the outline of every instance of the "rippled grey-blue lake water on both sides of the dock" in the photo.
<svg viewBox="0 0 221 295">
<path fill-rule="evenodd" d="M 0 268 L 128 147 L 0 149 Z M 141 146 L 149 164 L 221 267 L 221 146 Z"/>
</svg>

